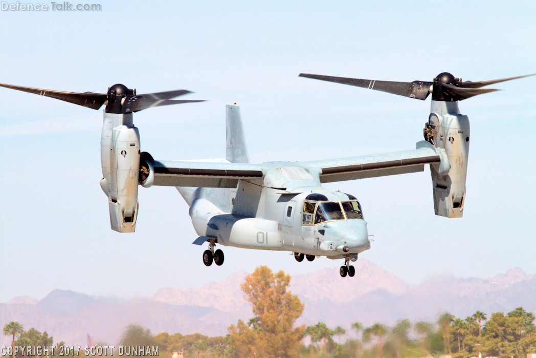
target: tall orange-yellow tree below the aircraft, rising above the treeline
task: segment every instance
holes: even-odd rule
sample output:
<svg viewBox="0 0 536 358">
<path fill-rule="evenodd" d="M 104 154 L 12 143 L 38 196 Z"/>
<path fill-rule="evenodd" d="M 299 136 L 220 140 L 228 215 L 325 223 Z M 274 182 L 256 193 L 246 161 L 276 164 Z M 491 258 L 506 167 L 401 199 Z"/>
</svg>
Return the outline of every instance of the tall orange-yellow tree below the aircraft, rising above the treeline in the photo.
<svg viewBox="0 0 536 358">
<path fill-rule="evenodd" d="M 303 303 L 287 291 L 290 281 L 290 275 L 283 271 L 274 274 L 267 266 L 259 266 L 245 277 L 241 288 L 255 317 L 250 320 L 252 327 L 240 320 L 228 328 L 235 353 L 266 357 L 299 354 L 305 327 L 294 327 L 294 324 L 303 312 Z M 252 349 L 244 348 L 244 344 Z"/>
</svg>

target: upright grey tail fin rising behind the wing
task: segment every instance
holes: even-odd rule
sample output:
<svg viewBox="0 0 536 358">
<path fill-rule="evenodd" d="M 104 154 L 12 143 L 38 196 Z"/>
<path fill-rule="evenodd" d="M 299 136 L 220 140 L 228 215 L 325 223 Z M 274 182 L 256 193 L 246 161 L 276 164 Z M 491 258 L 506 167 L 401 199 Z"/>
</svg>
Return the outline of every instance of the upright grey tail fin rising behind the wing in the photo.
<svg viewBox="0 0 536 358">
<path fill-rule="evenodd" d="M 240 107 L 225 106 L 226 134 L 225 159 L 231 163 L 249 163 L 248 145 L 245 143 Z"/>
</svg>

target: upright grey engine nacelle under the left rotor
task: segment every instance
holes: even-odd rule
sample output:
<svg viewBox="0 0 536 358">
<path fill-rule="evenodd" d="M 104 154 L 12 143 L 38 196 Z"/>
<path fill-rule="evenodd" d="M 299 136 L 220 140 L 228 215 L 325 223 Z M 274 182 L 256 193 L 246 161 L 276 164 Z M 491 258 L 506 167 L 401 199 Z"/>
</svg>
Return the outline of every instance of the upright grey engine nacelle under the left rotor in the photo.
<svg viewBox="0 0 536 358">
<path fill-rule="evenodd" d="M 138 215 L 140 141 L 132 113 L 105 113 L 101 135 L 102 190 L 108 196 L 111 229 L 134 232 Z"/>
</svg>

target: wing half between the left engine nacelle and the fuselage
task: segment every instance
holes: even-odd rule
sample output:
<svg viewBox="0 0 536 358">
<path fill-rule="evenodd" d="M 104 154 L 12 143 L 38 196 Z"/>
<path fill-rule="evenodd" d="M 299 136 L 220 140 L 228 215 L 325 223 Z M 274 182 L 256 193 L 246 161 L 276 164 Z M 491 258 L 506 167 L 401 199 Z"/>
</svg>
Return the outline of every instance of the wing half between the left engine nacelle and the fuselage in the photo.
<svg viewBox="0 0 536 358">
<path fill-rule="evenodd" d="M 264 176 L 257 164 L 154 160 L 152 185 L 236 188 L 239 179 Z"/>
</svg>

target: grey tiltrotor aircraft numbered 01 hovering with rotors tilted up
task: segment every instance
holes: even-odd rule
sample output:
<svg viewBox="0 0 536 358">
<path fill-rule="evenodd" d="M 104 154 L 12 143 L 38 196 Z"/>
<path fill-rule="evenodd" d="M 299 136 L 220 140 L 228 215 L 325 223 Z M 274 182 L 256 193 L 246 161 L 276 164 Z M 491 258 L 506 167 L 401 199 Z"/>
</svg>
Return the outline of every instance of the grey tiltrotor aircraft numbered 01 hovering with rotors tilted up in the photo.
<svg viewBox="0 0 536 358">
<path fill-rule="evenodd" d="M 496 91 L 481 87 L 511 79 L 461 81 L 443 72 L 431 82 L 386 82 L 369 79 L 300 74 L 301 77 L 343 83 L 424 100 L 432 94 L 425 123 L 425 140 L 415 149 L 315 160 L 250 164 L 240 108 L 226 106 L 226 159 L 199 161 L 155 160 L 140 151 L 139 131 L 132 113 L 142 109 L 196 102 L 173 100 L 189 91 L 136 94 L 122 84 L 107 93 L 73 93 L 0 84 L 42 96 L 104 109 L 101 134 L 103 192 L 108 196 L 111 229 L 133 232 L 138 216 L 138 186 L 174 186 L 190 206 L 199 237 L 193 244 L 209 244 L 203 262 L 222 265 L 221 246 L 278 250 L 304 257 L 344 259 L 340 275 L 354 276 L 351 261 L 370 249 L 367 222 L 355 196 L 322 187 L 325 182 L 413 173 L 430 165 L 435 214 L 461 217 L 470 143 L 469 119 L 458 101 Z M 527 75 L 532 76 L 532 75 Z"/>
</svg>

